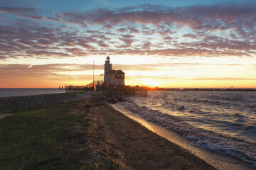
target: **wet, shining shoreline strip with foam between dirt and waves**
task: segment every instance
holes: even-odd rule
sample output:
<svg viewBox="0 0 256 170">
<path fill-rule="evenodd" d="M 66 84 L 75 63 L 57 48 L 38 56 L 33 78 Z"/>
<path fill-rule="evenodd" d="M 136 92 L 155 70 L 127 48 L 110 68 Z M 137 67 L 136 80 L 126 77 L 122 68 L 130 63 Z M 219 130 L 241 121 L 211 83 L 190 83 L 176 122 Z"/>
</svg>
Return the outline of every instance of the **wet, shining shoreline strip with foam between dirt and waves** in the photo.
<svg viewBox="0 0 256 170">
<path fill-rule="evenodd" d="M 139 117 L 139 115 L 132 113 L 131 111 L 128 111 L 118 103 L 112 104 L 112 107 L 120 113 L 136 121 L 137 123 L 143 125 L 152 132 L 155 132 L 157 135 L 166 138 L 167 140 L 178 146 L 181 146 L 183 149 L 188 150 L 188 152 L 191 152 L 192 154 L 196 155 L 196 157 L 203 159 L 208 164 L 214 166 L 216 169 L 255 169 L 255 167 L 252 166 L 251 164 L 246 164 L 245 162 L 242 162 L 239 159 L 235 159 L 227 155 L 218 154 L 216 152 L 211 152 L 210 150 L 207 149 L 202 149 L 200 147 L 193 146 L 191 145 L 191 141 L 187 140 L 182 135 L 176 132 L 172 132 L 171 130 L 166 130 L 164 127 L 161 127 L 160 125 L 150 123 L 144 120 L 144 118 Z"/>
</svg>

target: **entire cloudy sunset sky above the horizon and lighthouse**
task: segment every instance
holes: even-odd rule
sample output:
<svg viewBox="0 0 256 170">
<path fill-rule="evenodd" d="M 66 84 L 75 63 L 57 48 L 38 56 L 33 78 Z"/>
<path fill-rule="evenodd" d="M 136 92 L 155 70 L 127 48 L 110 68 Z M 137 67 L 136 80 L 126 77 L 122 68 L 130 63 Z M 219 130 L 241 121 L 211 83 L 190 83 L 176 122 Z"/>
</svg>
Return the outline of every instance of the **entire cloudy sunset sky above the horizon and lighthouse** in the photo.
<svg viewBox="0 0 256 170">
<path fill-rule="evenodd" d="M 256 1 L 0 0 L 0 88 L 256 88 Z"/>
</svg>

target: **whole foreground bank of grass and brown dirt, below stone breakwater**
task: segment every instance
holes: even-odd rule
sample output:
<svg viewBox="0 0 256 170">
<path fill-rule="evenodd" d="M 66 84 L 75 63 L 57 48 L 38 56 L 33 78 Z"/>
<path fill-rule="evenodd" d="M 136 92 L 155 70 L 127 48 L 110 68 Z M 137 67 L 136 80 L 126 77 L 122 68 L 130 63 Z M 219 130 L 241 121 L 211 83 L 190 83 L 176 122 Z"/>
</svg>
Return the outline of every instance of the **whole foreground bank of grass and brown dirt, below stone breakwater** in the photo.
<svg viewBox="0 0 256 170">
<path fill-rule="evenodd" d="M 60 169 L 215 169 L 114 110 L 100 97 L 16 111 L 2 118 L 0 138 L 5 145 L 0 146 L 3 149 L 0 157 L 5 161 L 0 166 L 3 169 L 51 166 Z M 60 120 L 61 127 L 66 128 L 64 131 L 58 127 Z M 9 152 L 10 149 L 14 152 Z M 66 159 L 63 154 L 67 155 Z"/>
</svg>

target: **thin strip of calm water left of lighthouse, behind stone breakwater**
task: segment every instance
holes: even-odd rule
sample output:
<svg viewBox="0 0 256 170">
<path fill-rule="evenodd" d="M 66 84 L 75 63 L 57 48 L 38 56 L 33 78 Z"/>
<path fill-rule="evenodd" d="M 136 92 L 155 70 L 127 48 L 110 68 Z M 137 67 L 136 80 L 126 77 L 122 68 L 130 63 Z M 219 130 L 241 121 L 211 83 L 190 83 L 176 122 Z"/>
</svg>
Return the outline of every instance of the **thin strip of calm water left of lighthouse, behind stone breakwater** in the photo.
<svg viewBox="0 0 256 170">
<path fill-rule="evenodd" d="M 59 91 L 58 88 L 25 88 L 25 89 L 0 89 L 0 98 L 1 97 L 10 97 L 10 96 L 31 96 L 36 94 L 58 94 L 65 93 L 65 91 Z"/>
</svg>

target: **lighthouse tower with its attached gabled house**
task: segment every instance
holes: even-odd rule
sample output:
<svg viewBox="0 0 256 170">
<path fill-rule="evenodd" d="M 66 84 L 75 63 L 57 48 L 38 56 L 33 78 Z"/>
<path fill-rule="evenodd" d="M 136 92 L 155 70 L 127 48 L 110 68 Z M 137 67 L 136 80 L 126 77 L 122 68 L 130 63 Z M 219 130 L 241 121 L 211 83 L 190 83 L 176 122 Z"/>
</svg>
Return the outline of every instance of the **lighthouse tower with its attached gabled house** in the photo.
<svg viewBox="0 0 256 170">
<path fill-rule="evenodd" d="M 107 56 L 107 60 L 105 61 L 104 82 L 114 86 L 124 85 L 124 74 L 125 73 L 120 69 L 112 69 L 112 64 L 110 64 L 110 57 Z"/>
</svg>

